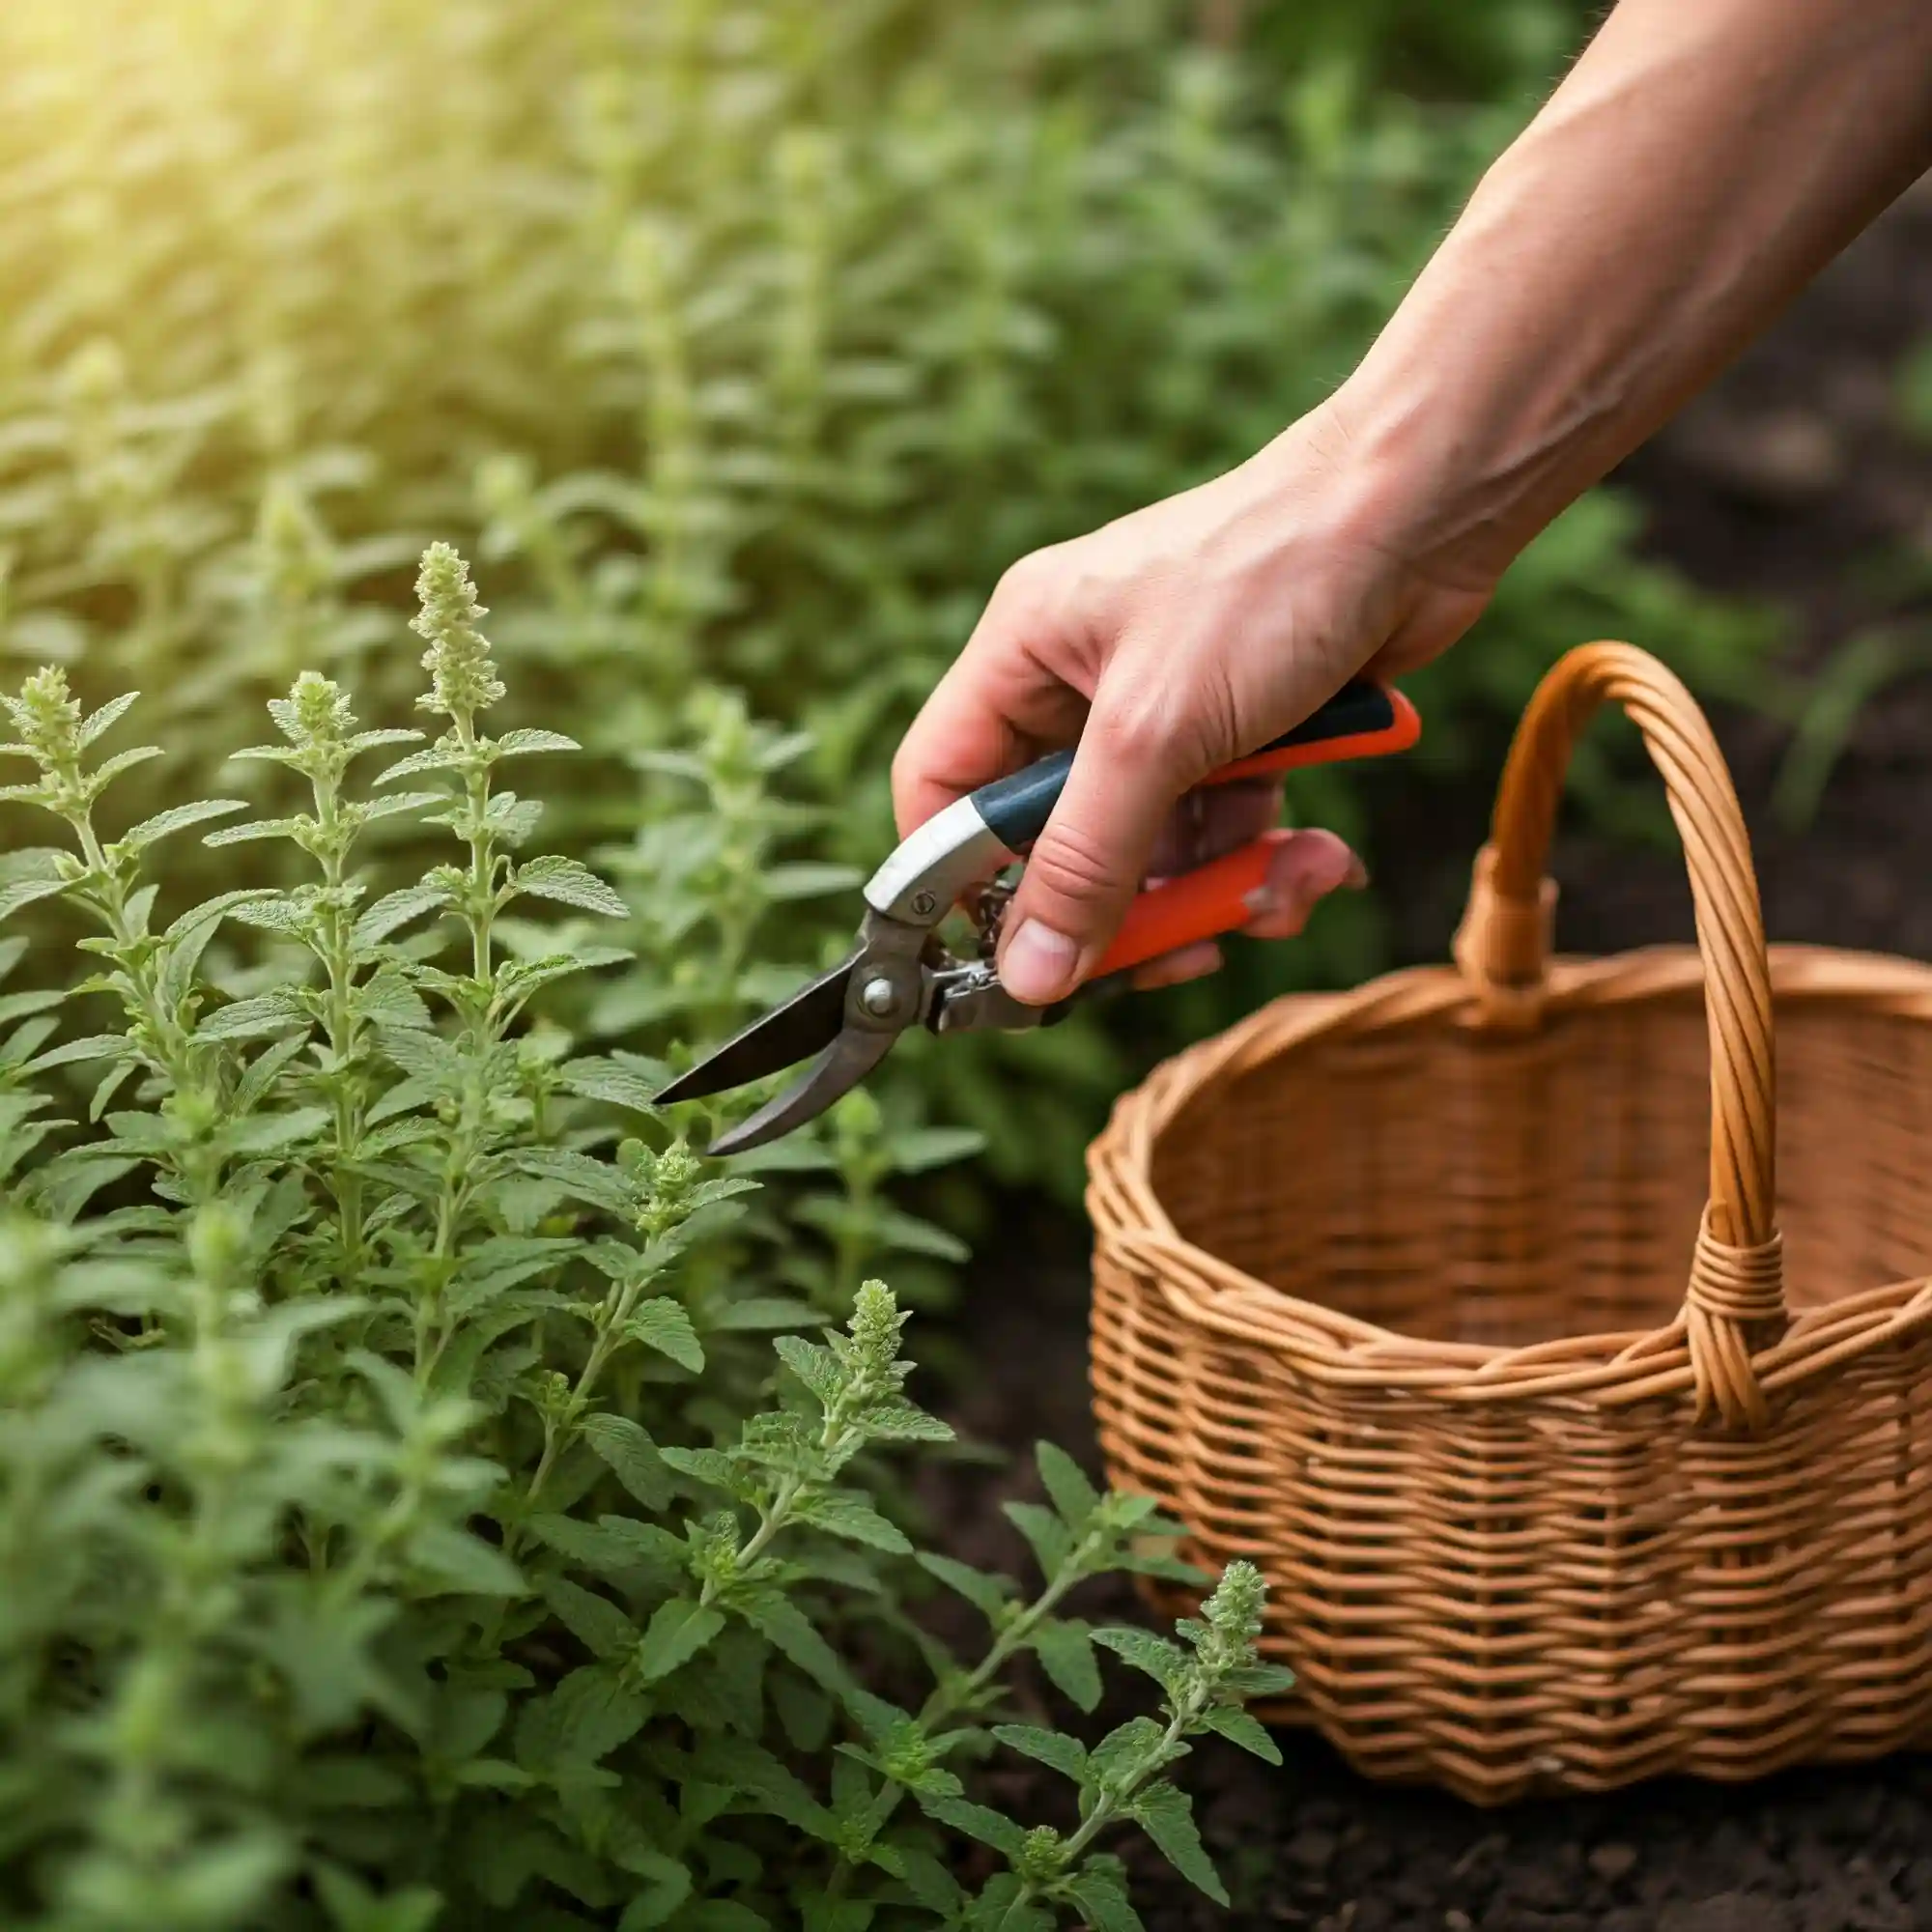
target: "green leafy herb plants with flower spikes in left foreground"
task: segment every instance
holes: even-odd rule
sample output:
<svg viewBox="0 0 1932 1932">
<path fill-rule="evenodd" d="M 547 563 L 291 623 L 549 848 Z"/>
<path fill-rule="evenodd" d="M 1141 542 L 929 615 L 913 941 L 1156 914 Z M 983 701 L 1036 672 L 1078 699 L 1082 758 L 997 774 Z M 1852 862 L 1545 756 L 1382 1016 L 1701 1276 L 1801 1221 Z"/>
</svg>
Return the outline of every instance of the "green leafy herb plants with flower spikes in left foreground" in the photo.
<svg viewBox="0 0 1932 1932">
<path fill-rule="evenodd" d="M 446 545 L 417 593 L 435 734 L 303 672 L 240 753 L 284 769 L 269 808 L 116 833 L 131 699 L 43 670 L 4 701 L 6 802 L 54 825 L 0 887 L 33 929 L 0 954 L 8 1922 L 1121 1932 L 1128 1828 L 1221 1897 L 1169 1774 L 1206 1733 L 1273 1756 L 1258 1575 L 1179 1642 L 1092 1629 L 1103 1571 L 1211 1578 L 1051 1447 L 1049 1503 L 1010 1505 L 1032 1590 L 914 1549 L 889 1459 L 951 1430 L 854 1279 L 918 1246 L 875 1198 L 891 1130 L 860 1101 L 802 1142 L 808 1231 L 651 1113 L 657 1061 L 537 1010 L 636 916 L 535 848 L 506 775 L 574 746 L 489 730 Z M 280 846 L 272 883 L 164 908 L 187 835 Z M 983 1615 L 976 1660 L 933 1588 Z M 1005 1721 L 1022 1656 L 1092 1712 L 1109 1650 L 1157 1716 Z M 1065 1824 L 974 1797 L 1001 1748 L 1068 1779 Z"/>
</svg>

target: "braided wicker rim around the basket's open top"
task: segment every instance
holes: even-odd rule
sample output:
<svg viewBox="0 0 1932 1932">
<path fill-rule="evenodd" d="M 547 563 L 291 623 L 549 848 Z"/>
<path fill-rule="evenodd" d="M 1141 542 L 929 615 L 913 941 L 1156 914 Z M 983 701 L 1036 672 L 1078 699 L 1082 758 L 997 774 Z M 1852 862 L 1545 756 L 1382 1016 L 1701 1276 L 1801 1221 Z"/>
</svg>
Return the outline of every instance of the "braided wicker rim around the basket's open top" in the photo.
<svg viewBox="0 0 1932 1932">
<path fill-rule="evenodd" d="M 1779 1009 L 1845 1005 L 1932 1024 L 1932 962 L 1843 947 L 1774 943 Z M 1542 1012 L 1702 997 L 1694 945 L 1602 956 L 1557 954 Z M 1538 1343 L 1434 1343 L 1289 1294 L 1223 1262 L 1175 1229 L 1153 1186 L 1153 1155 L 1177 1113 L 1202 1092 L 1337 1032 L 1412 1022 L 1482 1024 L 1478 989 L 1455 966 L 1399 968 L 1349 991 L 1285 993 L 1221 1034 L 1173 1055 L 1124 1092 L 1088 1153 L 1095 1260 L 1107 1254 L 1150 1281 L 1177 1318 L 1339 1389 L 1403 1391 L 1453 1405 L 1582 1401 L 1623 1408 L 1692 1391 L 1683 1314 L 1665 1327 L 1594 1331 Z M 1932 1153 L 1932 1148 L 1928 1148 Z M 1768 1395 L 1932 1327 L 1932 1273 L 1859 1289 L 1793 1314 L 1752 1350 Z"/>
</svg>

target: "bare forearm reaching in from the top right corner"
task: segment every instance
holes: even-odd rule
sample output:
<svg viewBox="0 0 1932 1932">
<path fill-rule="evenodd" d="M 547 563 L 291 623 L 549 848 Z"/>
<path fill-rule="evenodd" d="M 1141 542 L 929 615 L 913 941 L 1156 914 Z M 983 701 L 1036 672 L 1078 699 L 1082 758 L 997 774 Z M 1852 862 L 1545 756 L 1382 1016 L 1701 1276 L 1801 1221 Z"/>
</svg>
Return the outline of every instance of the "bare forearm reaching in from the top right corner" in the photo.
<svg viewBox="0 0 1932 1932">
<path fill-rule="evenodd" d="M 1499 574 L 1928 164 L 1928 0 L 1623 0 L 1335 398 L 1376 541 Z"/>
</svg>

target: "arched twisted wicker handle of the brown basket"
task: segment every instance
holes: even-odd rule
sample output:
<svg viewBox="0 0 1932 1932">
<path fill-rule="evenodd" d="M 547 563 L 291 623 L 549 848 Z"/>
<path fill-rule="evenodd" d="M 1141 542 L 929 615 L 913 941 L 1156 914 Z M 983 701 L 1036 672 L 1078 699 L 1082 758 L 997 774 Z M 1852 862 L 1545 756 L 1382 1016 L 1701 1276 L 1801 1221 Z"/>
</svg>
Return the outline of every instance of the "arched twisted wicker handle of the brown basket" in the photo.
<svg viewBox="0 0 1932 1932">
<path fill-rule="evenodd" d="M 1770 1420 L 1752 1343 L 1783 1327 L 1776 1225 L 1772 970 L 1750 838 L 1710 723 L 1675 674 L 1629 643 L 1569 651 L 1517 728 L 1476 860 L 1455 958 L 1488 1024 L 1534 1026 L 1549 960 L 1555 883 L 1544 867 L 1571 750 L 1598 705 L 1619 703 L 1663 777 L 1683 838 L 1710 1020 L 1710 1200 L 1679 1318 L 1702 1420 Z"/>
</svg>

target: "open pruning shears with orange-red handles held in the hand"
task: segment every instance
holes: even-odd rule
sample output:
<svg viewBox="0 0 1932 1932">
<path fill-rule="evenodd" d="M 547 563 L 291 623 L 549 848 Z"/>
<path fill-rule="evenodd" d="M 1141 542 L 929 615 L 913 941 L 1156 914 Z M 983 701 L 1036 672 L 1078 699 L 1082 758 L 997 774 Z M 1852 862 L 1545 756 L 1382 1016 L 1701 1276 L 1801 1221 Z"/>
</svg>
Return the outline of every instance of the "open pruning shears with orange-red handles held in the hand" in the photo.
<svg viewBox="0 0 1932 1932">
<path fill-rule="evenodd" d="M 1209 773 L 1202 784 L 1385 757 L 1406 752 L 1420 734 L 1422 721 L 1401 692 L 1358 678 L 1310 719 Z M 1289 837 L 1285 831 L 1262 833 L 1194 871 L 1148 885 L 1094 974 L 1066 999 L 1051 1007 L 1012 999 L 993 964 L 1016 885 L 1001 875 L 1024 860 L 1045 829 L 1072 761 L 1070 750 L 1051 752 L 933 813 L 866 883 L 866 914 L 852 952 L 672 1080 L 655 1103 L 703 1099 L 810 1059 L 792 1086 L 707 1150 L 744 1153 L 825 1113 L 910 1026 L 935 1034 L 1051 1026 L 1076 1001 L 1122 985 L 1136 966 L 1248 923 L 1250 895 L 1264 885 L 1273 848 Z M 978 935 L 968 956 L 939 937 L 954 908 L 966 912 Z"/>
</svg>

